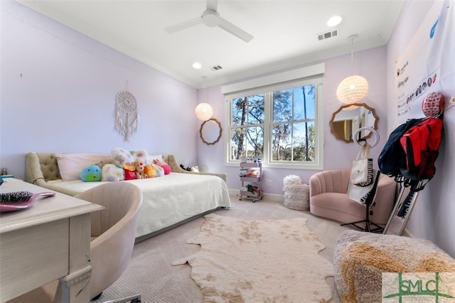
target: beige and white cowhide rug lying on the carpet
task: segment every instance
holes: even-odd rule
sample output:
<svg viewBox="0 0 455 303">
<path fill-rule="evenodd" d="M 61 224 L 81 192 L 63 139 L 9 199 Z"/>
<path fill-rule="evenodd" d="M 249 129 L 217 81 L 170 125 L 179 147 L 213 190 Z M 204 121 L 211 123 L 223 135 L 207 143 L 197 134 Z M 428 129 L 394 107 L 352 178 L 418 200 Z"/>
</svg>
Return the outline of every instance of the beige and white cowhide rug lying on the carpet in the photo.
<svg viewBox="0 0 455 303">
<path fill-rule="evenodd" d="M 258 207 L 260 205 L 258 204 Z M 333 265 L 305 218 L 244 220 L 209 214 L 187 243 L 198 253 L 173 265 L 191 265 L 204 302 L 328 302 Z"/>
</svg>

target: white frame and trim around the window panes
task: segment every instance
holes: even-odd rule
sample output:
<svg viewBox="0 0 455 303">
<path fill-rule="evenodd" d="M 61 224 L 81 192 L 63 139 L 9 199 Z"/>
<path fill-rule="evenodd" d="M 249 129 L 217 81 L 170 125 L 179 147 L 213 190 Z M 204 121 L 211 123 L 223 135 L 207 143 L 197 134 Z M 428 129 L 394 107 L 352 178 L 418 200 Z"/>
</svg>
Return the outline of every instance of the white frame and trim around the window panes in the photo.
<svg viewBox="0 0 455 303">
<path fill-rule="evenodd" d="M 247 80 L 236 84 L 221 87 L 221 92 L 225 95 L 225 165 L 237 166 L 240 160 L 230 160 L 230 123 L 232 121 L 231 103 L 232 99 L 250 96 L 252 94 L 264 93 L 264 157 L 263 167 L 277 167 L 287 169 L 323 169 L 323 74 L 325 72 L 324 63 L 302 67 L 288 72 Z M 272 132 L 272 111 L 273 111 L 273 92 L 292 87 L 305 85 L 316 85 L 316 113 L 315 113 L 315 143 L 316 160 L 314 162 L 287 162 L 273 161 L 270 157 L 272 146 L 270 145 L 270 134 Z"/>
</svg>

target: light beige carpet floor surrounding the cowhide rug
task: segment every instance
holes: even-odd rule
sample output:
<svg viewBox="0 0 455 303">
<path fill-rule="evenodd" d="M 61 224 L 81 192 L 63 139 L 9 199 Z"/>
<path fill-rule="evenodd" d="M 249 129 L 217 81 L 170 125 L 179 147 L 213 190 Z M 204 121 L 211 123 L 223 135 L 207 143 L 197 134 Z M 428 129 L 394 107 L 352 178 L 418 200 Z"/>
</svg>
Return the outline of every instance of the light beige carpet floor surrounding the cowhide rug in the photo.
<svg viewBox="0 0 455 303">
<path fill-rule="evenodd" d="M 319 255 L 331 263 L 336 239 L 340 233 L 351 229 L 349 226 L 340 226 L 337 222 L 313 216 L 309 211 L 288 209 L 282 203 L 267 199 L 252 203 L 246 199 L 239 201 L 238 197 L 231 195 L 231 202 L 230 209 L 220 209 L 215 211 L 215 214 L 251 220 L 306 218 L 306 226 L 316 233 L 319 241 L 326 246 Z M 137 243 L 124 274 L 102 293 L 100 299 L 92 302 L 100 303 L 139 292 L 142 302 L 146 303 L 203 302 L 202 292 L 191 278 L 191 266 L 172 265 L 173 261 L 200 250 L 200 246 L 187 244 L 186 241 L 199 233 L 203 220 L 195 219 Z M 340 302 L 333 277 L 328 277 L 327 281 L 333 290 L 333 297 L 329 302 Z"/>
</svg>

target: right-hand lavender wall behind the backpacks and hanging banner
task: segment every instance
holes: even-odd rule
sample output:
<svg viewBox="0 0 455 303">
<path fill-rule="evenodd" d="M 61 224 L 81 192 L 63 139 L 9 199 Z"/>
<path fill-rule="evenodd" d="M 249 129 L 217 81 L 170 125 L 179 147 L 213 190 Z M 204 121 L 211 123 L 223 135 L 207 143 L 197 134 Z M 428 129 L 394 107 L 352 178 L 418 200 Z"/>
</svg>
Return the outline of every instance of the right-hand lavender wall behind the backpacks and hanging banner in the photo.
<svg viewBox="0 0 455 303">
<path fill-rule="evenodd" d="M 396 126 L 395 60 L 410 43 L 433 4 L 434 1 L 406 1 L 387 45 L 388 132 Z M 453 0 L 450 5 L 455 5 Z M 455 39 L 455 33 L 448 37 Z M 454 92 L 455 83 L 451 88 Z M 436 175 L 419 192 L 407 228 L 414 237 L 427 238 L 455 257 L 455 106 L 444 112 L 444 131 L 444 141 L 436 162 Z"/>
</svg>

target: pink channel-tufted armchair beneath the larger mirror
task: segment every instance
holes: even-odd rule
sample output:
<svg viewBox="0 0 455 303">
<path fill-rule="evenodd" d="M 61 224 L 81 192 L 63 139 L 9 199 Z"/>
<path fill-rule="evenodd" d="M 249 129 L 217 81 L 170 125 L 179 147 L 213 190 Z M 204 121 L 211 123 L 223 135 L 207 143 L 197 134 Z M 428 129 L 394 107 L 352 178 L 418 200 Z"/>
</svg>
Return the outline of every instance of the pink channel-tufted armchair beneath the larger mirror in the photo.
<svg viewBox="0 0 455 303">
<path fill-rule="evenodd" d="M 315 216 L 341 223 L 365 219 L 365 206 L 348 198 L 350 169 L 325 170 L 312 175 L 310 185 L 310 212 Z M 385 227 L 395 202 L 397 183 L 392 177 L 380 175 L 375 205 L 370 209 L 370 221 Z M 361 225 L 361 224 L 360 224 Z"/>
</svg>

